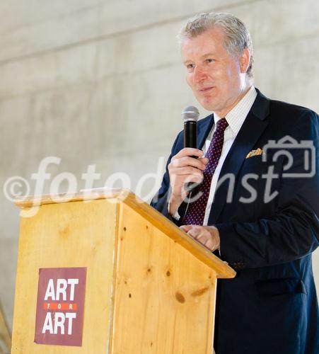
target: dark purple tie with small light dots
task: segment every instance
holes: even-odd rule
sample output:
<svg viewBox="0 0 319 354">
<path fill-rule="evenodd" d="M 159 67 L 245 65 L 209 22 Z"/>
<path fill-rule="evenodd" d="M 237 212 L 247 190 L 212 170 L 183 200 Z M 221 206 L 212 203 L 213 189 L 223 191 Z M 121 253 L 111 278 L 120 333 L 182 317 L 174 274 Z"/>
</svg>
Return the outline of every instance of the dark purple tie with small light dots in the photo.
<svg viewBox="0 0 319 354">
<path fill-rule="evenodd" d="M 224 145 L 224 131 L 226 127 L 228 127 L 228 122 L 225 118 L 221 118 L 216 122 L 216 130 L 206 154 L 208 163 L 203 172 L 204 180 L 192 191 L 192 197 L 199 192 L 202 193 L 202 196 L 194 202 L 190 202 L 190 205 L 188 205 L 183 222 L 185 225 L 202 225 L 204 222 L 209 189 L 211 188 L 211 178 L 213 178 L 219 158 L 221 157 L 221 150 Z"/>
</svg>

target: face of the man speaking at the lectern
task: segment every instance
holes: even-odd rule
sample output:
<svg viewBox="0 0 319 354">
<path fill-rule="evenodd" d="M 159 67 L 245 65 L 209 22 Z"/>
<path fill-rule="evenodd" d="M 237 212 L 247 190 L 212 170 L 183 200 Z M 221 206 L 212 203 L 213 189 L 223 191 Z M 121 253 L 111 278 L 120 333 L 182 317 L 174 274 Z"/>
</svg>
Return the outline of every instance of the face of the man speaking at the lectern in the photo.
<svg viewBox="0 0 319 354">
<path fill-rule="evenodd" d="M 199 103 L 219 116 L 226 115 L 246 89 L 247 58 L 228 54 L 223 30 L 217 27 L 185 39 L 181 50 L 187 84 Z M 249 61 L 249 52 L 244 52 Z"/>
</svg>

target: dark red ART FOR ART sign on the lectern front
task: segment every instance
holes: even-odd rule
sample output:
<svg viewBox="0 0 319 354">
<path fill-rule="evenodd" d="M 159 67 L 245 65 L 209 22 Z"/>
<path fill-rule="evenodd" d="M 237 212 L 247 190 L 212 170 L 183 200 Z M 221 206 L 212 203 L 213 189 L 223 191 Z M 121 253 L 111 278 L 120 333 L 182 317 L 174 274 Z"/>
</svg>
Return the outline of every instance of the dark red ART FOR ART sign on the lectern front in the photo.
<svg viewBox="0 0 319 354">
<path fill-rule="evenodd" d="M 40 268 L 35 343 L 82 346 L 86 268 Z"/>
</svg>

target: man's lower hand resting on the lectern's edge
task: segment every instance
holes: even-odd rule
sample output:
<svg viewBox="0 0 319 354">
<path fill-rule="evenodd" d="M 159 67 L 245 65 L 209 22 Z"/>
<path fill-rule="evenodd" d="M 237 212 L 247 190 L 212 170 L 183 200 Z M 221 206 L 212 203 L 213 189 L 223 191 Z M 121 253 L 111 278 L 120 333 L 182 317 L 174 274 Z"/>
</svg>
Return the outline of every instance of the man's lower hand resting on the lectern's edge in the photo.
<svg viewBox="0 0 319 354">
<path fill-rule="evenodd" d="M 209 251 L 215 251 L 220 247 L 219 231 L 214 226 L 182 225 L 180 229 L 203 244 Z"/>
</svg>

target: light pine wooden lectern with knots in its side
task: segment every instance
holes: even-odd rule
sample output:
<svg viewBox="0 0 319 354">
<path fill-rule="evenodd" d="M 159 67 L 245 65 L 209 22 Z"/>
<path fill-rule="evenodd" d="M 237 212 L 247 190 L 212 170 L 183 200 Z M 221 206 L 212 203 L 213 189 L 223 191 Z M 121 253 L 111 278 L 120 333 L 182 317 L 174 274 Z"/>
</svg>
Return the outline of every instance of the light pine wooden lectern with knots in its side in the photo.
<svg viewBox="0 0 319 354">
<path fill-rule="evenodd" d="M 211 354 L 216 278 L 235 271 L 127 190 L 68 198 L 16 202 L 27 215 L 11 353 Z M 39 269 L 77 267 L 86 268 L 81 346 L 35 343 Z"/>
</svg>

